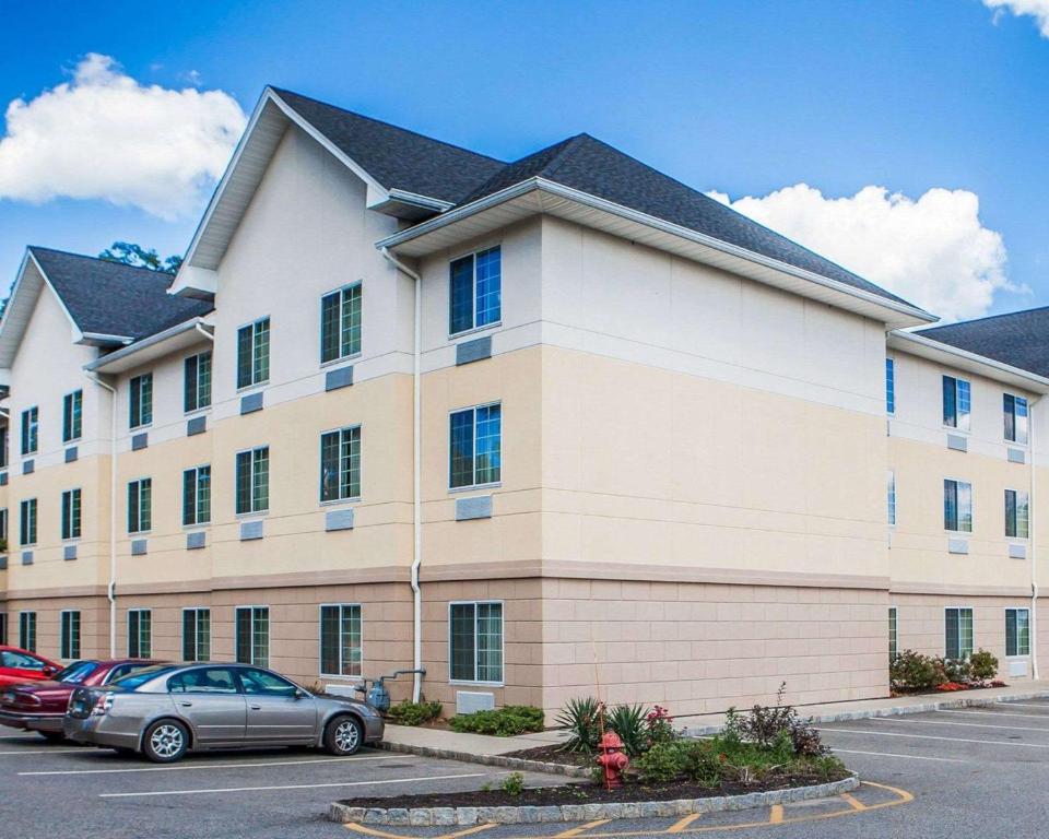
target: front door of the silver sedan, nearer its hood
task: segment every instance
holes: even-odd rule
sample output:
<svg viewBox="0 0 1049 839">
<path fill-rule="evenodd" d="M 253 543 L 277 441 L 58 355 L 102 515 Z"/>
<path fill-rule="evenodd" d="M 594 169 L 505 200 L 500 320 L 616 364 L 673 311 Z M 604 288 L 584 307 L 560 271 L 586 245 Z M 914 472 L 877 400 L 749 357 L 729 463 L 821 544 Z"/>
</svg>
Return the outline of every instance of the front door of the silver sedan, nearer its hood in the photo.
<svg viewBox="0 0 1049 839">
<path fill-rule="evenodd" d="M 317 737 L 317 700 L 286 678 L 258 667 L 240 667 L 248 706 L 246 741 L 313 743 Z"/>
</svg>

